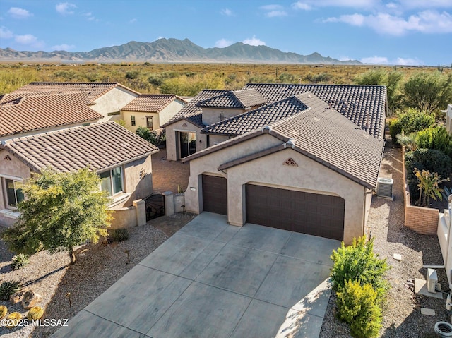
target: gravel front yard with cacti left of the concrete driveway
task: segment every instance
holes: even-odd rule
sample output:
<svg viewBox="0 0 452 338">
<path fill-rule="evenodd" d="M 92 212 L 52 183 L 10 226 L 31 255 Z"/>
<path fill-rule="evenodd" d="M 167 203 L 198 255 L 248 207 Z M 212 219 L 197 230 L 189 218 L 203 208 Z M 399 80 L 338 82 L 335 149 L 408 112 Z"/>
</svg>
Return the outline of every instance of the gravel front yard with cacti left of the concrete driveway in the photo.
<svg viewBox="0 0 452 338">
<path fill-rule="evenodd" d="M 166 229 L 180 229 L 193 217 L 188 213 L 159 217 L 144 226 L 130 228 L 127 241 L 110 244 L 104 241 L 96 245 L 79 246 L 76 249 L 75 265 L 69 264 L 67 252 L 50 254 L 42 251 L 32 255 L 30 264 L 26 267 L 11 270 L 13 254 L 0 240 L 0 282 L 9 279 L 23 280 L 30 289 L 42 296 L 39 305 L 45 308 L 43 318 L 70 319 L 160 246 L 168 238 L 165 233 L 169 231 Z M 129 251 L 130 261 L 126 251 Z M 69 298 L 65 296 L 68 293 L 71 294 L 71 306 Z M 0 301 L 0 305 L 7 306 L 8 313 L 18 311 L 25 316 L 28 312 L 20 305 L 11 306 L 9 301 Z M 49 337 L 57 329 L 58 327 L 0 327 L 0 337 Z"/>
</svg>

